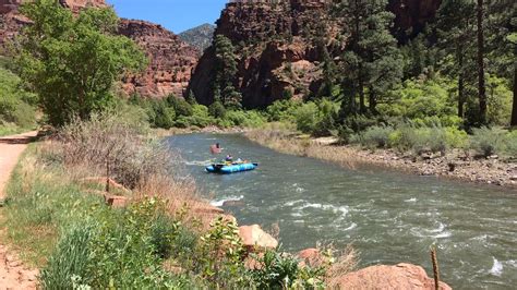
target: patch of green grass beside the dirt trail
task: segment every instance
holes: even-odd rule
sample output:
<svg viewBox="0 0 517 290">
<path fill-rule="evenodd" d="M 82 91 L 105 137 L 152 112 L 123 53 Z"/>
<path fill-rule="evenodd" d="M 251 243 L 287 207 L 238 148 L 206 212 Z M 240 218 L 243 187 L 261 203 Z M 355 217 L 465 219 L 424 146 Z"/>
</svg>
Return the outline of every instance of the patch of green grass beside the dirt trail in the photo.
<svg viewBox="0 0 517 290">
<path fill-rule="evenodd" d="M 60 228 L 77 220 L 80 213 L 101 206 L 99 196 L 84 193 L 67 181 L 62 169 L 34 167 L 36 144 L 22 155 L 8 184 L 2 208 L 5 238 L 31 266 L 44 266 L 58 240 Z"/>
</svg>

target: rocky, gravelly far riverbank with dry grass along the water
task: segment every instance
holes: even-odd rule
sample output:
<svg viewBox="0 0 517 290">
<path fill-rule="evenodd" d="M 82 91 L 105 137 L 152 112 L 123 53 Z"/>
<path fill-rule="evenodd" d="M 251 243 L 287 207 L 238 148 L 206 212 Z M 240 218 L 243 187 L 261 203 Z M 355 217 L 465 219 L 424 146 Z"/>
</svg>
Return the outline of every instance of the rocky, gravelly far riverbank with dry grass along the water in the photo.
<svg viewBox="0 0 517 290">
<path fill-rule="evenodd" d="M 310 138 L 275 130 L 254 130 L 244 135 L 282 153 L 318 158 L 348 168 L 374 165 L 420 176 L 445 177 L 517 190 L 517 162 L 498 156 L 477 158 L 464 150 L 452 150 L 445 155 L 424 153 L 419 156 L 392 149 L 366 150 L 357 146 L 338 145 L 334 137 Z"/>
</svg>

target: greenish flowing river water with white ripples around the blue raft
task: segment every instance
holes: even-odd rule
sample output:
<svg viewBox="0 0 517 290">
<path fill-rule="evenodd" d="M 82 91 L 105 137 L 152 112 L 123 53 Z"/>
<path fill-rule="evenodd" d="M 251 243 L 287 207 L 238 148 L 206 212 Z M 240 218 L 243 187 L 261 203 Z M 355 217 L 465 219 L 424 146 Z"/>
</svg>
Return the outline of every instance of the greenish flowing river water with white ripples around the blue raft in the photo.
<svg viewBox="0 0 517 290">
<path fill-rule="evenodd" d="M 209 174 L 204 166 L 219 142 L 224 154 L 260 162 L 257 170 Z M 183 170 L 240 225 L 278 225 L 284 251 L 316 243 L 352 244 L 360 266 L 408 262 L 458 289 L 517 287 L 517 194 L 496 186 L 417 177 L 380 168 L 344 169 L 279 154 L 238 134 L 188 134 L 168 140 Z M 223 156 L 220 156 L 221 158 Z M 225 206 L 225 201 L 231 201 Z"/>
</svg>

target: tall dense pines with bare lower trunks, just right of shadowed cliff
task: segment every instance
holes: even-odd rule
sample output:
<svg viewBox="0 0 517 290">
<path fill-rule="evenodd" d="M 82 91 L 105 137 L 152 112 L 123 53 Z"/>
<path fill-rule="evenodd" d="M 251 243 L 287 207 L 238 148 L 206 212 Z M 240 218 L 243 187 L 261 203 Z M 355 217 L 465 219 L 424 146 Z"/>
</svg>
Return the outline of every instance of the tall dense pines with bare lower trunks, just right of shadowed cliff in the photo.
<svg viewBox="0 0 517 290">
<path fill-rule="evenodd" d="M 389 33 L 394 14 L 386 5 L 385 0 L 342 0 L 336 7 L 348 48 L 341 57 L 341 88 L 349 95 L 342 101 L 341 118 L 366 112 L 366 89 L 370 110 L 375 113 L 377 95 L 402 76 L 401 55 Z"/>
</svg>

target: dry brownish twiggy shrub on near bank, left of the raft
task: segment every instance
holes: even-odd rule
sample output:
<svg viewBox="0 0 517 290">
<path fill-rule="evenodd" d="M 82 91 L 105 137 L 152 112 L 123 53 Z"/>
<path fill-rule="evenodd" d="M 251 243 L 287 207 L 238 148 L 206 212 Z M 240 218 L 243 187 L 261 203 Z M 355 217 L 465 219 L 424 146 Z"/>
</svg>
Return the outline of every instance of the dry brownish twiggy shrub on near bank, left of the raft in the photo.
<svg viewBox="0 0 517 290">
<path fill-rule="evenodd" d="M 106 172 L 123 185 L 134 189 L 153 174 L 170 170 L 170 154 L 157 143 L 142 138 L 142 129 L 118 119 L 118 114 L 93 114 L 89 121 L 73 120 L 58 135 L 68 166 L 83 165 L 91 174 Z"/>
</svg>

